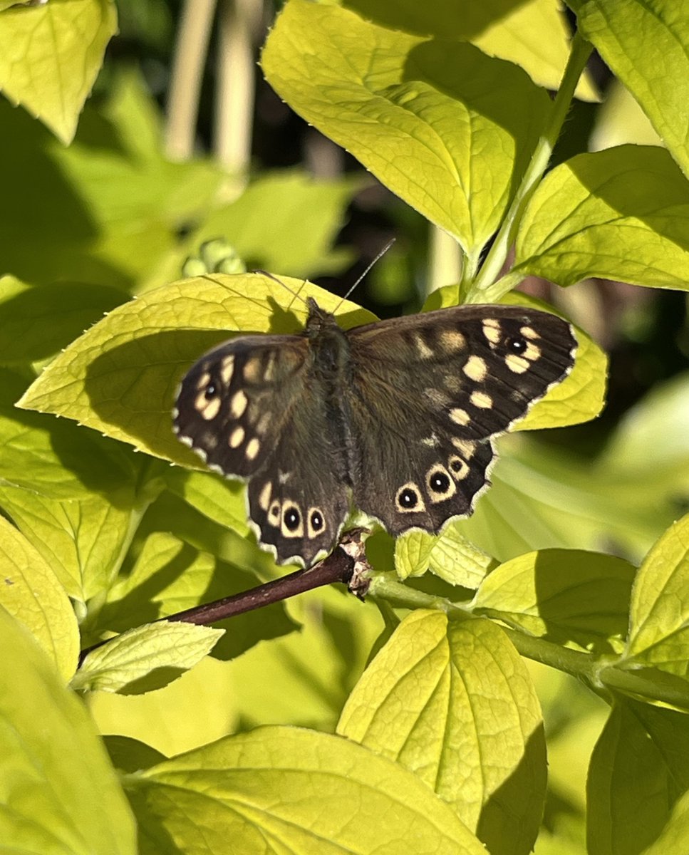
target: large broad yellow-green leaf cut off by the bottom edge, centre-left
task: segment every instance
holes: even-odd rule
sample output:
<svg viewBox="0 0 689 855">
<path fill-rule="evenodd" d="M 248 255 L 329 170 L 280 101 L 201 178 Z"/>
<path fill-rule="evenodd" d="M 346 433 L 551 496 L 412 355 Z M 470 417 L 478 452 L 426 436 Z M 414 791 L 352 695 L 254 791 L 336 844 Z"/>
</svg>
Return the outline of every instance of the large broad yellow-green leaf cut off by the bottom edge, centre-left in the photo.
<svg viewBox="0 0 689 855">
<path fill-rule="evenodd" d="M 415 775 L 314 731 L 259 728 L 129 775 L 125 786 L 142 855 L 216 855 L 228 840 L 236 852 L 485 855 Z"/>
</svg>

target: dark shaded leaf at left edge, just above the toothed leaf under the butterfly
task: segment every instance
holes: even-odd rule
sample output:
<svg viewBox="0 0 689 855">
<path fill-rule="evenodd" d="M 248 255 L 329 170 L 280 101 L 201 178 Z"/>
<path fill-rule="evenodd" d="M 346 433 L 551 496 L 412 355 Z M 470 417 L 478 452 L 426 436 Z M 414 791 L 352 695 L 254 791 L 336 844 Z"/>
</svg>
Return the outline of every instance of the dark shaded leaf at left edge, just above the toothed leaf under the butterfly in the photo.
<svg viewBox="0 0 689 855">
<path fill-rule="evenodd" d="M 54 356 L 126 295 L 109 286 L 60 282 L 30 288 L 0 279 L 0 361 L 37 362 Z"/>
</svg>

